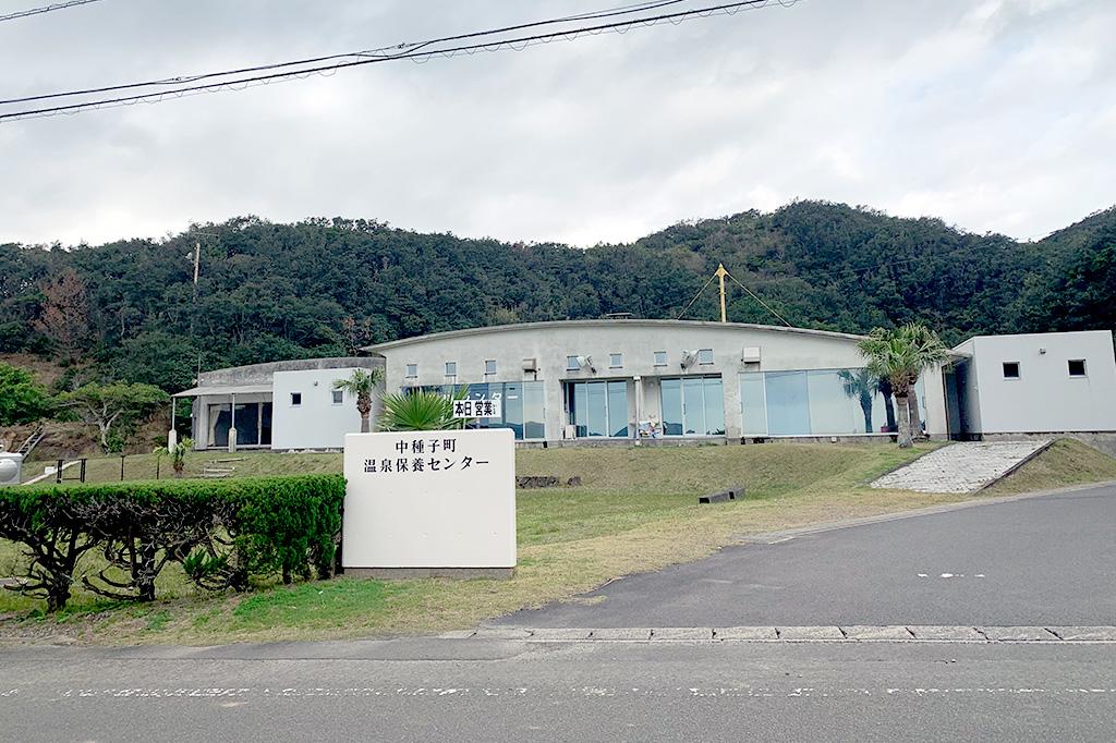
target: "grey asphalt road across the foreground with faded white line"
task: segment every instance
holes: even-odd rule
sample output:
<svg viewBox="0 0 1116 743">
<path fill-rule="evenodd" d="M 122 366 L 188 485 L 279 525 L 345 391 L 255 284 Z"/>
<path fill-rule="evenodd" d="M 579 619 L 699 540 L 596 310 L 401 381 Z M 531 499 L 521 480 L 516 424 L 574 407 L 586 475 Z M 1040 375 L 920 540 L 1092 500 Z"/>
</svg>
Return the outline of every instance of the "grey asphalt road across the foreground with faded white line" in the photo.
<svg viewBox="0 0 1116 743">
<path fill-rule="evenodd" d="M 1108 741 L 1116 645 L 0 650 L 6 741 Z"/>
</svg>

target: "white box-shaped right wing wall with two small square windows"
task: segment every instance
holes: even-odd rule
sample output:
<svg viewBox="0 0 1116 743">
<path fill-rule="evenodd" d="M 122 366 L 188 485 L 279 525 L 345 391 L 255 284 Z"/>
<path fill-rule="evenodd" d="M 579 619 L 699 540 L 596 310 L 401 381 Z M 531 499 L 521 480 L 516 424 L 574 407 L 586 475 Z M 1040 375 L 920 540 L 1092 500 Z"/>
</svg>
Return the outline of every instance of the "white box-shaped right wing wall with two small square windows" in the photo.
<svg viewBox="0 0 1116 743">
<path fill-rule="evenodd" d="M 1110 331 L 979 336 L 971 342 L 975 389 L 966 393 L 979 401 L 971 433 L 1116 431 Z M 1085 359 L 1087 376 L 1070 377 L 1069 359 Z M 1004 361 L 1019 363 L 1018 379 L 1003 377 Z"/>
</svg>

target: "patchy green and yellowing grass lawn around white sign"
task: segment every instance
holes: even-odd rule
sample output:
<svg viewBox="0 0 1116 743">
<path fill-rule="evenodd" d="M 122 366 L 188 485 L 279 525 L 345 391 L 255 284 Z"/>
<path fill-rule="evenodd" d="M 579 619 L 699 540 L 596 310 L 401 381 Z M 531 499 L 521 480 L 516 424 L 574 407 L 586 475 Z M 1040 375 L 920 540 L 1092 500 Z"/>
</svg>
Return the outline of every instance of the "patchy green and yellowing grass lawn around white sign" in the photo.
<svg viewBox="0 0 1116 743">
<path fill-rule="evenodd" d="M 509 580 L 339 578 L 261 587 L 244 595 L 205 595 L 169 568 L 160 579 L 163 598 L 150 605 L 118 605 L 79 592 L 65 612 L 47 618 L 37 610 L 41 602 L 0 596 L 0 638 L 64 635 L 92 643 L 217 644 L 465 628 L 522 607 L 573 599 L 619 576 L 702 558 L 744 533 L 964 500 L 865 486 L 932 447 L 525 450 L 517 455 L 519 474 L 579 475 L 584 484 L 519 491 L 519 567 Z M 1002 488 L 1116 479 L 1116 460 L 1091 452 L 1076 442 L 1059 443 Z M 283 472 L 339 470 L 338 455 L 247 457 L 237 463 L 239 474 L 276 472 L 273 465 Z M 1081 470 L 1084 463 L 1089 463 L 1088 470 Z M 696 504 L 698 495 L 730 484 L 744 485 L 748 498 Z M 1016 491 L 993 494 L 1003 492 Z M 0 576 L 11 575 L 16 557 L 13 546 L 0 543 Z"/>
</svg>

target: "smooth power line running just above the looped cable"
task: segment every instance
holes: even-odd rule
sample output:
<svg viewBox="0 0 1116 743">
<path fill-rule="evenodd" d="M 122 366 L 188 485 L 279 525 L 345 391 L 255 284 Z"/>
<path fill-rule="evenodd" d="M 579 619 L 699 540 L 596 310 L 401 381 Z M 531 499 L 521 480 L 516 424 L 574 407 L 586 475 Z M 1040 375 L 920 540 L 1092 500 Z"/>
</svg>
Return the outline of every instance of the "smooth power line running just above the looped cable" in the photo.
<svg viewBox="0 0 1116 743">
<path fill-rule="evenodd" d="M 450 41 L 462 41 L 464 39 L 472 39 L 482 36 L 494 36 L 498 33 L 509 33 L 511 31 L 521 31 L 528 28 L 538 28 L 542 26 L 554 26 L 556 23 L 570 23 L 579 20 L 594 20 L 599 18 L 610 18 L 615 16 L 624 16 L 636 12 L 646 12 L 647 10 L 656 10 L 665 6 L 673 6 L 680 2 L 686 2 L 687 0 L 657 0 L 648 2 L 639 2 L 631 6 L 620 6 L 618 8 L 609 8 L 606 10 L 598 10 L 588 13 L 581 13 L 579 16 L 566 16 L 565 18 L 554 18 L 543 21 L 533 21 L 530 23 L 519 23 L 516 26 L 506 26 L 503 28 L 490 29 L 487 31 L 473 31 L 470 33 L 459 33 L 456 36 L 446 36 L 439 39 L 430 39 L 427 41 L 421 42 L 401 42 L 394 44 L 387 47 L 379 47 L 376 49 L 363 49 L 360 51 L 346 51 L 339 55 L 326 55 L 321 57 L 307 57 L 304 59 L 294 59 L 290 61 L 276 62 L 271 65 L 257 65 L 253 67 L 241 67 L 238 69 L 228 69 L 220 73 L 203 73 L 199 75 L 176 75 L 174 77 L 162 78 L 158 80 L 145 80 L 142 83 L 125 83 L 122 85 L 108 85 L 99 88 L 86 88 L 84 90 L 67 90 L 62 93 L 47 93 L 42 95 L 25 96 L 22 98 L 8 98 L 0 100 L 0 106 L 17 104 L 17 103 L 30 103 L 32 100 L 48 100 L 52 98 L 67 98 L 71 96 L 85 96 L 98 93 L 112 93 L 114 90 L 133 90 L 136 88 L 144 87 L 157 87 L 157 86 L 169 86 L 169 85 L 184 85 L 187 83 L 198 83 L 199 80 L 212 79 L 215 77 L 231 77 L 233 75 L 247 75 L 249 73 L 262 73 L 270 69 L 282 69 L 285 67 L 298 67 L 306 65 L 316 65 L 324 61 L 329 61 L 331 59 L 349 59 L 349 58 L 363 58 L 363 57 L 383 57 L 393 58 L 398 57 L 403 54 L 416 54 L 423 48 L 436 45 L 446 44 Z M 395 54 L 385 54 L 394 50 Z"/>
</svg>

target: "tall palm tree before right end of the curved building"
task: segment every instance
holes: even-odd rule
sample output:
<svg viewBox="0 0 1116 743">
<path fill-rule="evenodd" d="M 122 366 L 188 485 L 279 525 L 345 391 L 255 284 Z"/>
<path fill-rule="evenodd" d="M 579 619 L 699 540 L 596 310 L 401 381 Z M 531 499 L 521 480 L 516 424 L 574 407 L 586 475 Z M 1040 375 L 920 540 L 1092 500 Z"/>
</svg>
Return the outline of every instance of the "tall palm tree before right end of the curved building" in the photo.
<svg viewBox="0 0 1116 743">
<path fill-rule="evenodd" d="M 876 328 L 857 344 L 857 348 L 868 361 L 868 372 L 891 382 L 898 404 L 899 448 L 908 448 L 913 444 L 911 390 L 924 369 L 945 363 L 949 349 L 937 334 L 917 322 L 896 329 Z"/>
</svg>

